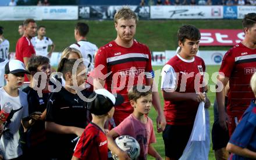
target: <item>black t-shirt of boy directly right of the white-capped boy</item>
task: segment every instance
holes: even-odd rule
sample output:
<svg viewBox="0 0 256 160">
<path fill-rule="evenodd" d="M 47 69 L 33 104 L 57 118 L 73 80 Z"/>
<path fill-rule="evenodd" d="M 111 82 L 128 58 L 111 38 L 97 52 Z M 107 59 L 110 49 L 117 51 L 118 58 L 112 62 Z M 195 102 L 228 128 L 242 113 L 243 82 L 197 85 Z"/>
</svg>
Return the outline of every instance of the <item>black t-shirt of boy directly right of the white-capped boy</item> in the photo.
<svg viewBox="0 0 256 160">
<path fill-rule="evenodd" d="M 27 101 L 29 103 L 29 114 L 33 112 L 44 112 L 47 108 L 49 92 L 42 92 L 42 97 L 38 96 L 37 90 L 30 86 L 23 89 L 27 93 Z M 33 126 L 27 130 L 26 143 L 28 147 L 41 145 L 46 140 L 45 121 L 35 121 Z"/>
</svg>

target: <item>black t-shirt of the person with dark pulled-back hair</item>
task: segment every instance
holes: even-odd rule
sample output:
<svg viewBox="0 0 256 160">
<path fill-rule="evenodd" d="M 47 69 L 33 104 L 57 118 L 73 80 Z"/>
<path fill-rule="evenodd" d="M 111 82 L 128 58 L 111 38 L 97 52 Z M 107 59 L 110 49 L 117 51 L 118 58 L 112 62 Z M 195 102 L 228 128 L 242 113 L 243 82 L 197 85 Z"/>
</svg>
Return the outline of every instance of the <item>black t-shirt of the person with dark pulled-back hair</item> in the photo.
<svg viewBox="0 0 256 160">
<path fill-rule="evenodd" d="M 88 97 L 90 93 L 82 91 Z M 55 122 L 63 126 L 76 126 L 86 128 L 87 125 L 87 103 L 80 99 L 77 94 L 68 92 L 62 87 L 61 91 L 51 93 L 47 103 L 46 121 Z M 55 157 L 60 158 L 66 152 L 66 158 L 71 159 L 76 143 L 71 141 L 76 138 L 76 134 L 56 134 L 47 132 L 47 141 L 51 147 L 58 147 Z M 56 151 L 56 148 L 55 148 Z M 71 156 L 71 157 L 70 157 Z"/>
</svg>

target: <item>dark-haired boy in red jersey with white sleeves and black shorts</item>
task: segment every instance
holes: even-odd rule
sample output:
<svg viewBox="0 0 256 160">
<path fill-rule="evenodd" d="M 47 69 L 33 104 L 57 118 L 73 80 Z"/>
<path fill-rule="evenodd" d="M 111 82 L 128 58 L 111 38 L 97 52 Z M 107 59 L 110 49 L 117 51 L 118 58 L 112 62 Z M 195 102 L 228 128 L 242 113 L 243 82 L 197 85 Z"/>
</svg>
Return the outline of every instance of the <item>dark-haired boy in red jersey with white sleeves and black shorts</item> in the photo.
<svg viewBox="0 0 256 160">
<path fill-rule="evenodd" d="M 161 90 L 165 106 L 163 131 L 166 159 L 179 159 L 189 140 L 200 101 L 205 101 L 202 84 L 205 64 L 197 57 L 200 31 L 182 26 L 177 34 L 180 52 L 162 69 Z M 209 103 L 207 104 L 209 107 Z"/>
</svg>

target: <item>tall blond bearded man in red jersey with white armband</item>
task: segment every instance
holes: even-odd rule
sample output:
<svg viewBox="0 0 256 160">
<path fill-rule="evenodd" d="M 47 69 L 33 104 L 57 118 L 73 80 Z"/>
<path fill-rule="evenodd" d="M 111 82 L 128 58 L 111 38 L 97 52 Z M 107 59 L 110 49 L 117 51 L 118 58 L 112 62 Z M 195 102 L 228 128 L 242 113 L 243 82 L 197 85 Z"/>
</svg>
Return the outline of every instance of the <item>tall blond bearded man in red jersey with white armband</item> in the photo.
<svg viewBox="0 0 256 160">
<path fill-rule="evenodd" d="M 153 86 L 154 71 L 151 66 L 150 50 L 146 45 L 133 39 L 137 15 L 131 9 L 124 7 L 115 14 L 114 20 L 117 38 L 98 50 L 95 55 L 93 76 L 95 76 L 94 89 L 105 86 L 109 92 L 119 93 L 125 97 L 125 102 L 115 107 L 113 115 L 115 125 L 119 125 L 133 112 L 127 96 L 129 89 L 137 83 Z M 98 70 L 101 67 L 102 70 Z M 109 75 L 102 76 L 106 74 Z M 158 92 L 153 92 L 152 103 L 158 112 L 158 132 L 162 132 L 166 122 Z"/>
</svg>

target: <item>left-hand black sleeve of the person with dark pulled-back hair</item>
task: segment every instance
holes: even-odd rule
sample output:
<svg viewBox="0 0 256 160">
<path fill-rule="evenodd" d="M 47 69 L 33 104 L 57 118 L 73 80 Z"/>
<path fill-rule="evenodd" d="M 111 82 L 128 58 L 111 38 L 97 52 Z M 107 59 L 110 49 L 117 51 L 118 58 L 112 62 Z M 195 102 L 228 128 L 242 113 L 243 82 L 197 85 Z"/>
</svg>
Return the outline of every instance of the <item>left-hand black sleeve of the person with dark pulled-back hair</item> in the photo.
<svg viewBox="0 0 256 160">
<path fill-rule="evenodd" d="M 54 122 L 55 121 L 55 115 L 56 115 L 56 106 L 58 105 L 57 101 L 59 100 L 55 93 L 51 93 L 51 96 L 49 97 L 49 100 L 47 102 L 47 114 L 45 121 Z"/>
</svg>

